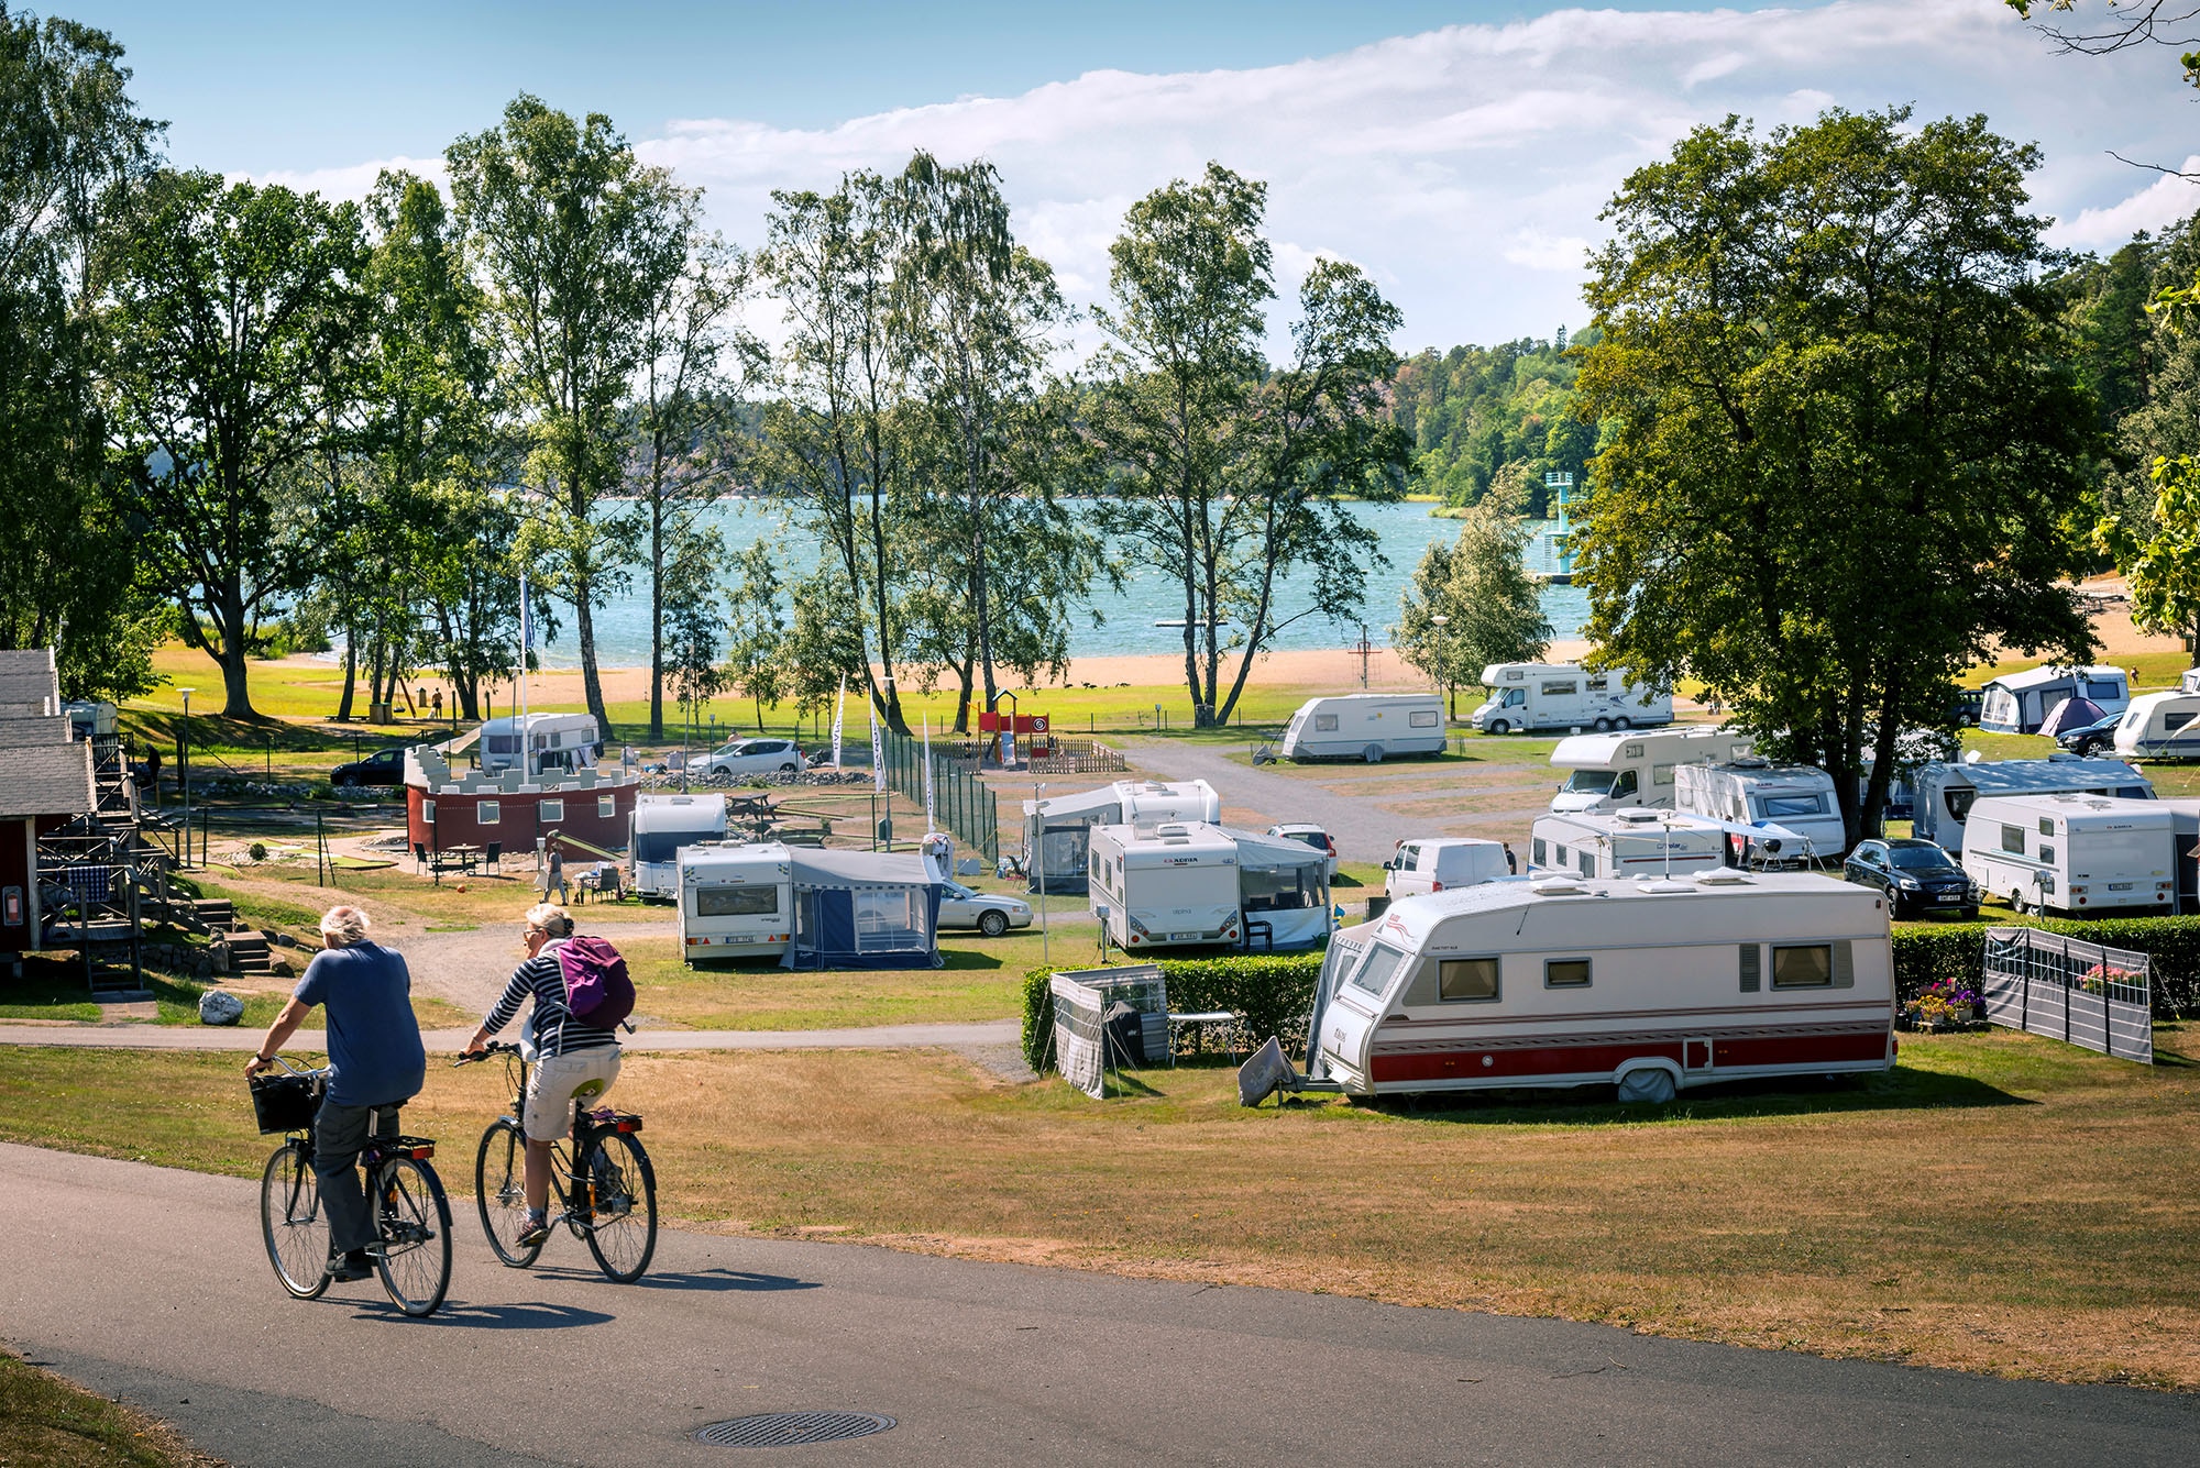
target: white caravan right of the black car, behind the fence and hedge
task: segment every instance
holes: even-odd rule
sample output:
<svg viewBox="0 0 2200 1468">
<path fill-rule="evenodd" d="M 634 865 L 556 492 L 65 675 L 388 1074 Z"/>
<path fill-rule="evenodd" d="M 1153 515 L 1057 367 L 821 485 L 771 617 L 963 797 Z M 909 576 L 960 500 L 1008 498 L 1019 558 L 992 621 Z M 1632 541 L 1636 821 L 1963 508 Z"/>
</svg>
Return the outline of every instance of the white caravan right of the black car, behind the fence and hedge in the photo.
<svg viewBox="0 0 2200 1468">
<path fill-rule="evenodd" d="M 2112 796 L 1982 796 L 1962 870 L 2017 912 L 2176 908 L 2176 813 Z"/>
</svg>

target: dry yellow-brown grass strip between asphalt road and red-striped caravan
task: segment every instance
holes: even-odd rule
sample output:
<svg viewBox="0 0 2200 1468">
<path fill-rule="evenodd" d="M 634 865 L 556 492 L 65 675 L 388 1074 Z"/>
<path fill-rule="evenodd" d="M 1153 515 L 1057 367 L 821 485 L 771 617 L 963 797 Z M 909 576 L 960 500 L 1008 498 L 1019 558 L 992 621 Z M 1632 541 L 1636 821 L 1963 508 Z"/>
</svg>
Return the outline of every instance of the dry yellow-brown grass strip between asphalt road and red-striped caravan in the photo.
<svg viewBox="0 0 2200 1468">
<path fill-rule="evenodd" d="M 667 1211 L 741 1233 L 1608 1321 L 2055 1380 L 2200 1387 L 2200 1066 L 1905 1042 L 1861 1086 L 1663 1114 L 1511 1097 L 1245 1112 L 1228 1070 L 1089 1101 L 937 1053 L 634 1055 Z M 161 1094 L 163 1108 L 139 1103 Z M 497 1077 L 433 1070 L 447 1176 Z M 231 1059 L 13 1050 L 0 1134 L 251 1176 Z"/>
</svg>

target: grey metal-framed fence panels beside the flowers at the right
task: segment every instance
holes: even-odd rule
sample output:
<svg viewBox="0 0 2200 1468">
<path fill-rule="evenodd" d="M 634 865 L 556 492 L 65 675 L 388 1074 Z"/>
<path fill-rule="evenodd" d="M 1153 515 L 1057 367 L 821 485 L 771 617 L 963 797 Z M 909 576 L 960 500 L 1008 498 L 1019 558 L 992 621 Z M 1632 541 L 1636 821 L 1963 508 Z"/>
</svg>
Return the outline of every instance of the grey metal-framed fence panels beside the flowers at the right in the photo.
<svg viewBox="0 0 2200 1468">
<path fill-rule="evenodd" d="M 1987 1022 L 2154 1064 L 2147 954 L 2039 927 L 1987 930 Z"/>
</svg>

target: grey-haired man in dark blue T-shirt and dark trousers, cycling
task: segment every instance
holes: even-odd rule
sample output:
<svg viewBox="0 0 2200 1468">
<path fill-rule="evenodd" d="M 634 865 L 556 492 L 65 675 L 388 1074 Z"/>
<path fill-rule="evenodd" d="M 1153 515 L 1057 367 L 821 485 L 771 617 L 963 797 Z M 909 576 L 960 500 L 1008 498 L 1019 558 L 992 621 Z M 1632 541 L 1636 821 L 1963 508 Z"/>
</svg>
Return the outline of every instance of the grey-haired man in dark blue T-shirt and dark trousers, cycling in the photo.
<svg viewBox="0 0 2200 1468">
<path fill-rule="evenodd" d="M 328 1092 L 312 1119 L 312 1171 L 328 1206 L 328 1272 L 332 1279 L 365 1279 L 374 1272 L 367 1246 L 376 1242 L 367 1193 L 359 1185 L 359 1154 L 367 1127 L 378 1138 L 398 1134 L 398 1108 L 420 1094 L 427 1081 L 427 1046 L 411 1011 L 411 971 L 405 956 L 367 943 L 367 914 L 330 908 L 321 916 L 321 943 L 290 1002 L 275 1015 L 260 1053 L 244 1075 L 260 1075 L 315 1004 L 328 1009 Z M 378 1121 L 376 1121 L 378 1119 Z"/>
</svg>

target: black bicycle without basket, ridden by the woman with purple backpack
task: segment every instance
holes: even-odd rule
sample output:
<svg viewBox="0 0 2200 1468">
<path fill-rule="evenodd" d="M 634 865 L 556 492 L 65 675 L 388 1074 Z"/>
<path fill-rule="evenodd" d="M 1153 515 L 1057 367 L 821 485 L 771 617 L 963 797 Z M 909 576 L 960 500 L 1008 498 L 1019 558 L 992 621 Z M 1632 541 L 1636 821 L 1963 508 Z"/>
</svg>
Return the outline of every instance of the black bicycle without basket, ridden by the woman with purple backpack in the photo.
<svg viewBox="0 0 2200 1468">
<path fill-rule="evenodd" d="M 506 1268 L 524 1270 L 541 1255 L 541 1244 L 521 1246 L 519 1224 L 526 1198 L 528 1059 L 515 1044 L 488 1044 L 480 1057 L 462 1055 L 458 1066 L 491 1055 L 504 1057 L 513 1110 L 482 1132 L 473 1158 L 473 1198 L 482 1211 L 482 1233 Z M 596 1268 L 618 1283 L 634 1283 L 658 1253 L 658 1174 L 642 1149 L 642 1119 L 631 1112 L 574 1105 L 572 1132 L 550 1147 L 550 1189 L 557 1209 L 550 1226 L 565 1224 L 596 1255 Z"/>
</svg>

